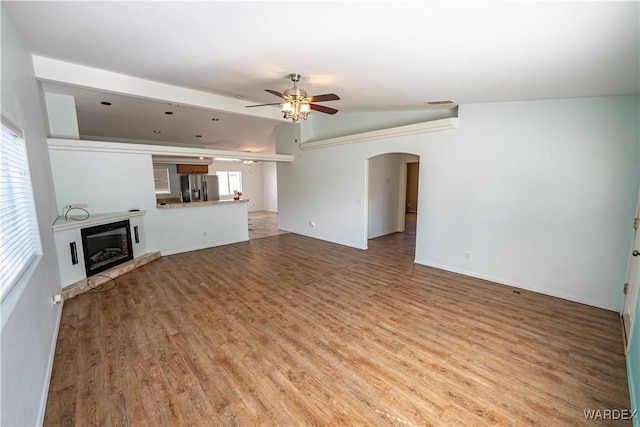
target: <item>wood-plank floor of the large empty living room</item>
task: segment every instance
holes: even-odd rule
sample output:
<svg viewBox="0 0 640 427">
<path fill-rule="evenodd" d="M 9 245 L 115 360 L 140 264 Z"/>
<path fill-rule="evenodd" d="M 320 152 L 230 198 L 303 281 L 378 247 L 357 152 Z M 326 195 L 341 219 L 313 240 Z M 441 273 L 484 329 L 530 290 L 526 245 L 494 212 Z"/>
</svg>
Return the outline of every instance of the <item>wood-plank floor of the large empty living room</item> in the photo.
<svg viewBox="0 0 640 427">
<path fill-rule="evenodd" d="M 415 265 L 413 246 L 284 234 L 66 301 L 45 425 L 593 426 L 612 422 L 584 410 L 629 408 L 616 313 Z"/>
</svg>

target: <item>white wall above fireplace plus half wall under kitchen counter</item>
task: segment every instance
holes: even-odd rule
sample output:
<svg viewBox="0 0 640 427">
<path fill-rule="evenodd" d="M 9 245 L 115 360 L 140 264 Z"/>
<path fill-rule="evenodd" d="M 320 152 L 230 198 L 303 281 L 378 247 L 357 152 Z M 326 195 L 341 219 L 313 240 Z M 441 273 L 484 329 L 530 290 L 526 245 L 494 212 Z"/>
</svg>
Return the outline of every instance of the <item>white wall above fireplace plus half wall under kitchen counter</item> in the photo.
<svg viewBox="0 0 640 427">
<path fill-rule="evenodd" d="M 169 255 L 249 238 L 244 203 L 158 209 L 151 155 L 58 150 L 50 155 L 59 206 L 88 203 L 93 214 L 146 210 L 149 252 Z"/>
</svg>

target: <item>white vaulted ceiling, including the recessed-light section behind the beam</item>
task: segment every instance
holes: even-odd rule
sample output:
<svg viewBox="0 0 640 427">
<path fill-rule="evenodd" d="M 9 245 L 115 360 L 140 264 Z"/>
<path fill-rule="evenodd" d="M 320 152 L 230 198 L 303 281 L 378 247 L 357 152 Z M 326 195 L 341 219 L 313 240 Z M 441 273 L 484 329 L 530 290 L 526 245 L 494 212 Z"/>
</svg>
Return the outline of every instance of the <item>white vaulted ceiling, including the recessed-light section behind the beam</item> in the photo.
<svg viewBox="0 0 640 427">
<path fill-rule="evenodd" d="M 35 55 L 242 96 L 247 104 L 277 102 L 264 89 L 291 87 L 291 72 L 302 74 L 300 86 L 311 95 L 338 94 L 339 101 L 325 104 L 338 114 L 420 110 L 440 100 L 640 93 L 638 1 L 2 1 L 1 7 Z M 274 120 L 47 85 L 76 97 L 84 136 L 275 150 Z M 113 105 L 105 108 L 104 100 Z M 152 134 L 159 126 L 162 134 Z"/>
</svg>

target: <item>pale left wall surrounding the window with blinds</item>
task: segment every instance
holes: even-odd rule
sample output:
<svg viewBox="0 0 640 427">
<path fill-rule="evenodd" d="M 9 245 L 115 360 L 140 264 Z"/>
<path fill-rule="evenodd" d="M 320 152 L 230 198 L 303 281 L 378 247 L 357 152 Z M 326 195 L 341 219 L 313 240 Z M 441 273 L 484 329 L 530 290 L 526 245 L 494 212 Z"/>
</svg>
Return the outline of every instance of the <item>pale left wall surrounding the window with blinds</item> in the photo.
<svg viewBox="0 0 640 427">
<path fill-rule="evenodd" d="M 51 307 L 60 293 L 51 224 L 55 196 L 46 144 L 44 101 L 31 54 L 14 24 L 2 13 L 2 115 L 23 129 L 42 241 L 43 257 L 32 274 L 18 283 L 0 306 L 2 312 L 0 425 L 39 425 L 47 391 L 61 306 Z"/>
</svg>

